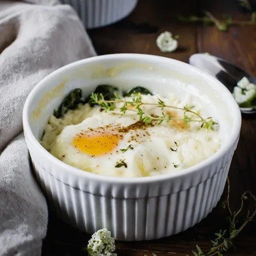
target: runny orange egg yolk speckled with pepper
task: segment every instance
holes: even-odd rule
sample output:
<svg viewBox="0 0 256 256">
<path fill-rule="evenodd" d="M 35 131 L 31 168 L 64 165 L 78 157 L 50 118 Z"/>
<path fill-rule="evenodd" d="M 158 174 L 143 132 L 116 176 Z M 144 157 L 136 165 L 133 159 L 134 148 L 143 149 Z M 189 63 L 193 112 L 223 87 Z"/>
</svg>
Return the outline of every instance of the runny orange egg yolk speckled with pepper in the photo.
<svg viewBox="0 0 256 256">
<path fill-rule="evenodd" d="M 82 153 L 90 156 L 102 156 L 111 153 L 118 145 L 119 135 L 113 133 L 77 134 L 73 139 L 73 146 Z"/>
</svg>

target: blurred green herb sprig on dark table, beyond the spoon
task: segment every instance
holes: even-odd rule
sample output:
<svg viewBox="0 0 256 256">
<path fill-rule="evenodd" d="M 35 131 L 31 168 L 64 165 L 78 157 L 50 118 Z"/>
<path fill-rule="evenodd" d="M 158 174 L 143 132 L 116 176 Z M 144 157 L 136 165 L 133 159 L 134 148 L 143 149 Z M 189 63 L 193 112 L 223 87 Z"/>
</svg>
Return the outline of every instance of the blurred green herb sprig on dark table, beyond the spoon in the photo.
<svg viewBox="0 0 256 256">
<path fill-rule="evenodd" d="M 222 20 L 217 19 L 212 13 L 208 11 L 203 11 L 204 16 L 199 17 L 196 15 L 190 15 L 189 17 L 183 17 L 179 16 L 178 19 L 181 22 L 188 22 L 188 23 L 194 23 L 194 22 L 201 22 L 204 25 L 215 25 L 220 31 L 228 31 L 230 26 L 235 25 L 256 25 L 256 13 L 253 12 L 251 14 L 250 20 L 233 20 L 230 16 L 224 15 L 224 18 Z"/>
</svg>

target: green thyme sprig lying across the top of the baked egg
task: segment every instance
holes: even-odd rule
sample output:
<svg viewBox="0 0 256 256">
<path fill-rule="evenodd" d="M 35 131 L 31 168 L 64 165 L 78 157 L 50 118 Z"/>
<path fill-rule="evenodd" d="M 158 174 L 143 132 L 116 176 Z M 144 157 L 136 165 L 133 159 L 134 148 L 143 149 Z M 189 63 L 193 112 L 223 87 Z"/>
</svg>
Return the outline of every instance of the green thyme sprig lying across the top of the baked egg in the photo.
<svg viewBox="0 0 256 256">
<path fill-rule="evenodd" d="M 117 94 L 115 94 L 115 99 L 105 100 L 104 96 L 101 93 L 100 94 L 92 93 L 90 102 L 94 104 L 98 104 L 101 108 L 105 110 L 105 112 L 114 111 L 115 109 L 118 109 L 115 106 L 115 103 L 123 103 L 121 108 L 119 108 L 121 113 L 125 114 L 126 111 L 136 112 L 137 115 L 139 115 L 139 120 L 143 121 L 145 124 L 150 124 L 153 121 L 157 121 L 158 124 L 161 124 L 163 121 L 166 121 L 168 123 L 170 120 L 175 120 L 175 121 L 184 121 L 184 125 L 187 125 L 189 122 L 199 122 L 201 123 L 201 128 L 205 128 L 205 129 L 213 129 L 213 126 L 217 124 L 214 120 L 212 120 L 211 117 L 207 117 L 204 119 L 199 113 L 192 111 L 191 108 L 187 106 L 184 106 L 183 108 L 179 108 L 177 106 L 166 105 L 165 102 L 161 99 L 158 99 L 158 103 L 145 103 L 142 101 L 142 96 L 140 93 L 132 97 L 131 100 L 125 100 Z M 142 109 L 143 105 L 157 106 L 162 110 L 161 116 L 154 116 L 146 113 Z M 130 106 L 133 106 L 134 108 L 131 109 L 129 108 Z M 166 114 L 163 111 L 164 108 L 184 111 L 183 118 L 171 117 L 169 114 Z M 187 113 L 193 114 L 193 117 L 189 117 Z"/>
</svg>

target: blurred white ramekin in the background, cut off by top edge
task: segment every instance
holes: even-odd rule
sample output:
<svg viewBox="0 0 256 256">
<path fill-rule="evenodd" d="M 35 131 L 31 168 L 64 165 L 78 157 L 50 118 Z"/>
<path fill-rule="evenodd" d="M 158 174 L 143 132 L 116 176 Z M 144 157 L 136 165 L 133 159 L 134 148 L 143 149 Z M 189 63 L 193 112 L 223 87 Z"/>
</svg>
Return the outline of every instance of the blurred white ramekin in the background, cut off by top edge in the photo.
<svg viewBox="0 0 256 256">
<path fill-rule="evenodd" d="M 71 5 L 87 29 L 99 28 L 128 16 L 138 0 L 60 0 Z"/>
</svg>

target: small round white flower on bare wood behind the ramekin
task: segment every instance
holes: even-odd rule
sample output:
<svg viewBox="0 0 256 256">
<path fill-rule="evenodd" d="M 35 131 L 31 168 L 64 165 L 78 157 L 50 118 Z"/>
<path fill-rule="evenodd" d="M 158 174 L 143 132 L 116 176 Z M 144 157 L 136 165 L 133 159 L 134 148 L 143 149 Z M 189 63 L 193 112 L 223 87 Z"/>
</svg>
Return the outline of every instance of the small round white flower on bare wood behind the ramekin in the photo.
<svg viewBox="0 0 256 256">
<path fill-rule="evenodd" d="M 157 37 L 157 46 L 161 52 L 173 52 L 178 47 L 178 41 L 172 33 L 165 31 Z"/>
</svg>

